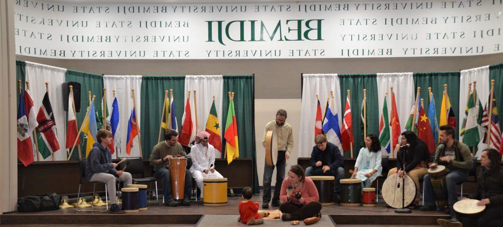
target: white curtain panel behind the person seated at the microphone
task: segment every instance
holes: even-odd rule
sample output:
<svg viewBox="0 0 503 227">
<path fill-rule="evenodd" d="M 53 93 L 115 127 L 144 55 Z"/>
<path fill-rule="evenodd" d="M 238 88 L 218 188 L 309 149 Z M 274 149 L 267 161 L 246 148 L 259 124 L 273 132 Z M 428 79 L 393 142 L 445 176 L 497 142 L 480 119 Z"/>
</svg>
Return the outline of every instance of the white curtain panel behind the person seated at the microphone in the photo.
<svg viewBox="0 0 503 227">
<path fill-rule="evenodd" d="M 388 92 L 388 98 L 386 102 L 388 104 L 388 116 L 390 116 L 392 110 L 391 102 L 391 90 L 393 87 L 393 93 L 395 93 L 396 108 L 398 110 L 398 116 L 400 121 L 401 132 L 405 131 L 405 124 L 410 115 L 410 108 L 415 101 L 416 88 L 414 88 L 414 78 L 412 72 L 401 72 L 401 73 L 377 73 L 377 90 L 378 90 L 378 101 L 379 101 L 379 119 L 381 119 L 382 106 L 384 105 L 384 96 Z M 391 118 L 389 118 L 391 122 Z M 389 127 L 391 135 L 391 127 Z M 390 144 L 392 142 L 392 137 L 390 136 Z M 398 139 L 400 142 L 400 139 Z M 396 157 L 396 151 L 393 151 Z M 383 152 L 382 155 L 388 155 L 387 152 Z M 391 153 L 390 153 L 391 155 Z"/>
</svg>

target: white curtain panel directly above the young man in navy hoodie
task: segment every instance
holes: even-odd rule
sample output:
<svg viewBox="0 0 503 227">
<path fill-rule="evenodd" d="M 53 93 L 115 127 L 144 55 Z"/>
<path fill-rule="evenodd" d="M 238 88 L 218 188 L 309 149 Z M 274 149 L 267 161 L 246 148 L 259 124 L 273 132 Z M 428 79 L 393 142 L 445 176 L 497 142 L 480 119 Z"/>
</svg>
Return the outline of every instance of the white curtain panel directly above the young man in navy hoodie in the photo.
<svg viewBox="0 0 503 227">
<path fill-rule="evenodd" d="M 134 89 L 136 99 L 136 121 L 138 126 L 141 126 L 141 80 L 142 76 L 139 75 L 105 75 L 103 77 L 103 85 L 107 89 L 107 105 L 108 110 L 112 113 L 112 103 L 114 100 L 112 90 L 115 89 L 115 96 L 119 104 L 119 129 L 120 141 L 115 139 L 114 142 L 120 142 L 120 150 L 116 151 L 118 157 L 140 157 L 140 148 L 138 144 L 138 136 L 134 138 L 133 148 L 131 155 L 126 154 L 126 141 L 127 141 L 127 125 L 131 111 L 133 110 L 133 98 L 131 96 L 131 89 Z M 101 107 L 95 106 L 101 109 Z M 138 127 L 139 128 L 139 127 Z M 141 130 L 140 130 L 141 132 Z M 143 157 L 148 158 L 148 157 Z"/>
</svg>

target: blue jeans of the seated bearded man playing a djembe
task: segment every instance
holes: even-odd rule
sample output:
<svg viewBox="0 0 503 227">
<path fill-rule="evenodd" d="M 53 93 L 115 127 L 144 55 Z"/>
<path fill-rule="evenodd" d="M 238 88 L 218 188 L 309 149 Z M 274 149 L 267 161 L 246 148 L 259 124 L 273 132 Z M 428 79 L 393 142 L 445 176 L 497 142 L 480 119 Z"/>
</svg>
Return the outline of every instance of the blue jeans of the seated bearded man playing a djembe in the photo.
<svg viewBox="0 0 503 227">
<path fill-rule="evenodd" d="M 457 217 L 457 214 L 453 209 L 454 203 L 458 201 L 458 188 L 456 187 L 456 184 L 465 181 L 467 178 L 468 176 L 466 176 L 466 174 L 461 172 L 460 170 L 453 170 L 445 177 L 445 186 L 447 187 L 447 198 L 449 200 L 451 218 Z M 423 179 L 423 183 L 425 184 L 425 191 L 423 194 L 423 196 L 425 197 L 425 205 L 435 205 L 436 198 L 435 194 L 433 193 L 430 174 L 426 174 Z"/>
</svg>

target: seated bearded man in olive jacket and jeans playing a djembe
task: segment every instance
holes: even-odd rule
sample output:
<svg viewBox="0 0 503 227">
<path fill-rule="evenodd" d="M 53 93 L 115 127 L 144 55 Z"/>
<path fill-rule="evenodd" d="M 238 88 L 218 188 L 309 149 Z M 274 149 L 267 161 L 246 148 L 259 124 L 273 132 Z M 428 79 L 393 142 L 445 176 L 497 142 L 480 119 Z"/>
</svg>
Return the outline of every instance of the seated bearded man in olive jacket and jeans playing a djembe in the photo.
<svg viewBox="0 0 503 227">
<path fill-rule="evenodd" d="M 457 214 L 453 209 L 454 203 L 458 201 L 458 189 L 456 184 L 465 181 L 468 178 L 468 173 L 473 167 L 473 158 L 470 149 L 466 144 L 454 140 L 454 128 L 449 125 L 441 126 L 440 128 L 440 145 L 435 151 L 435 159 L 430 164 L 430 168 L 436 168 L 437 165 L 446 167 L 447 175 L 445 177 L 445 185 L 447 187 L 447 198 L 449 201 L 449 209 L 451 214 L 450 221 L 459 223 Z M 435 196 L 433 193 L 432 183 L 430 181 L 430 174 L 424 177 L 425 191 L 424 199 L 425 205 L 421 208 L 423 211 L 437 210 L 435 205 Z M 439 207 L 441 210 L 444 207 Z"/>
</svg>

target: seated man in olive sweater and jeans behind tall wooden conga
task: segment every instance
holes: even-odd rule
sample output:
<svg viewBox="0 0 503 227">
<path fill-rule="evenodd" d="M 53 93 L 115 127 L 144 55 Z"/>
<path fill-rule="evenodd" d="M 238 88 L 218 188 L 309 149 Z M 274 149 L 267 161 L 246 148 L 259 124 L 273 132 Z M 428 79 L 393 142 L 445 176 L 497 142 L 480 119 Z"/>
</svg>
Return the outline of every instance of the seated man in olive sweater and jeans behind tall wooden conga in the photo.
<svg viewBox="0 0 503 227">
<path fill-rule="evenodd" d="M 178 206 L 178 202 L 173 199 L 171 192 L 171 172 L 166 168 L 166 161 L 169 158 L 180 155 L 185 157 L 185 151 L 182 145 L 178 143 L 178 132 L 175 130 L 168 130 L 164 133 L 164 141 L 161 141 L 152 149 L 149 161 L 150 165 L 154 167 L 154 177 L 162 180 L 162 194 L 164 195 L 165 206 Z M 190 171 L 185 171 L 185 185 L 184 185 L 184 200 L 182 205 L 190 205 L 190 191 L 192 189 L 192 174 Z"/>
</svg>

